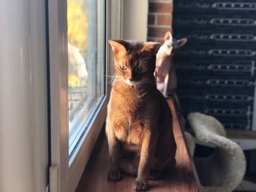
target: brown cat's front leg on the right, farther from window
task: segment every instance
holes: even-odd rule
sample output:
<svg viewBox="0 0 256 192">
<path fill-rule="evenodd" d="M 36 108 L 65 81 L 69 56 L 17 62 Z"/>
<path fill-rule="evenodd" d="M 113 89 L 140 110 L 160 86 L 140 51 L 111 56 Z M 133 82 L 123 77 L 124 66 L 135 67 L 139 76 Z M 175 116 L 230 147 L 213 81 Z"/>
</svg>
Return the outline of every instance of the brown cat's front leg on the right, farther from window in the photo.
<svg viewBox="0 0 256 192">
<path fill-rule="evenodd" d="M 157 147 L 157 139 L 159 132 L 145 131 L 143 136 L 142 146 L 140 150 L 140 164 L 138 168 L 138 176 L 133 183 L 135 191 L 147 191 L 148 190 L 148 176 L 151 170 L 151 166 L 154 160 L 154 154 Z"/>
</svg>

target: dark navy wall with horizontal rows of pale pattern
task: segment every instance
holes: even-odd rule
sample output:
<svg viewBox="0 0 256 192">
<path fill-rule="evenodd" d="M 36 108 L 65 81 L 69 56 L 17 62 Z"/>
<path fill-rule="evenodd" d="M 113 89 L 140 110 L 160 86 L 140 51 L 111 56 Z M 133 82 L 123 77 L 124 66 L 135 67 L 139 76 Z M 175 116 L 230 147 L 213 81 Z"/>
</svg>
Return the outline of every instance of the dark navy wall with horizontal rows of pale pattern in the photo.
<svg viewBox="0 0 256 192">
<path fill-rule="evenodd" d="M 256 61 L 255 0 L 175 0 L 174 57 L 184 115 L 203 112 L 225 128 L 252 129 Z"/>
</svg>

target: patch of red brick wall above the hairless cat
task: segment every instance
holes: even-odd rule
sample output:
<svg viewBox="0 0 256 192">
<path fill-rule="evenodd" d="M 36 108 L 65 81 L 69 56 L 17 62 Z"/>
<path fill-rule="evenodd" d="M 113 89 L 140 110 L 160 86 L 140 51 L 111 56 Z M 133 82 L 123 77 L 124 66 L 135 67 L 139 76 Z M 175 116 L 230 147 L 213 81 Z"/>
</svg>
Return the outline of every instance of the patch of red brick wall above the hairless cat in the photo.
<svg viewBox="0 0 256 192">
<path fill-rule="evenodd" d="M 148 0 L 148 41 L 163 42 L 173 23 L 173 0 Z"/>
</svg>

